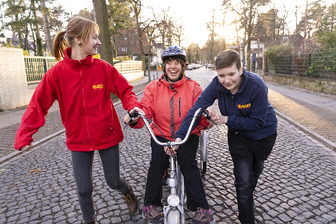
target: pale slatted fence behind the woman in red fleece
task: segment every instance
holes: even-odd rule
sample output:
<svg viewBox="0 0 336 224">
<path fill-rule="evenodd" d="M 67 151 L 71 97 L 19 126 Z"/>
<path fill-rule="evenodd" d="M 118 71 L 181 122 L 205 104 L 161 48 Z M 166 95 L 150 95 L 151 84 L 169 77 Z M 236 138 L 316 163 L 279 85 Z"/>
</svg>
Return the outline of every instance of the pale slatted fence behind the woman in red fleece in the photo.
<svg viewBox="0 0 336 224">
<path fill-rule="evenodd" d="M 28 84 L 39 83 L 44 74 L 54 66 L 57 61 L 54 57 L 24 56 Z M 119 72 L 142 70 L 142 61 L 113 60 Z"/>
</svg>

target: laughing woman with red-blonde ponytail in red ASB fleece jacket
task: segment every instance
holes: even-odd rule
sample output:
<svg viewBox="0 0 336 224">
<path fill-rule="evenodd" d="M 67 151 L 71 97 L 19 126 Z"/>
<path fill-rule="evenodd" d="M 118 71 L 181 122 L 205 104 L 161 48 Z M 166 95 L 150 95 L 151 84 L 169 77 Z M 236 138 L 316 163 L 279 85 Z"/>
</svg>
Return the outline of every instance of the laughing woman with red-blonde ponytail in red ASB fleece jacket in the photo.
<svg viewBox="0 0 336 224">
<path fill-rule="evenodd" d="M 17 150 L 32 147 L 32 135 L 44 125 L 48 109 L 57 100 L 85 223 L 95 223 L 92 198 L 94 150 L 99 152 L 109 187 L 125 195 L 130 213 L 134 214 L 138 209 L 132 187 L 119 175 L 118 144 L 123 140 L 123 133 L 110 94 L 121 99 L 125 110 L 142 111 L 142 106 L 133 87 L 111 64 L 92 57 L 101 44 L 98 35 L 98 25 L 79 16 L 70 20 L 66 31 L 57 33 L 53 52 L 59 62 L 47 71 L 37 86 L 14 144 Z"/>
</svg>

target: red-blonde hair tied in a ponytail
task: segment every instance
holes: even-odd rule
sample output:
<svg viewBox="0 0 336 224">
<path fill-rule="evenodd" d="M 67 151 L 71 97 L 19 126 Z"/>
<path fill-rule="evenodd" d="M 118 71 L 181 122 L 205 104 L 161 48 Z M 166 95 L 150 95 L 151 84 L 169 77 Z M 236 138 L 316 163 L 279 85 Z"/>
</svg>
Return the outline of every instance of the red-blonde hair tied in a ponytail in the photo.
<svg viewBox="0 0 336 224">
<path fill-rule="evenodd" d="M 52 43 L 52 51 L 56 60 L 62 60 L 65 49 L 72 47 L 75 38 L 81 39 L 82 45 L 85 45 L 94 28 L 97 29 L 99 34 L 99 26 L 94 21 L 81 16 L 74 16 L 69 21 L 67 29 L 58 32 Z"/>
</svg>

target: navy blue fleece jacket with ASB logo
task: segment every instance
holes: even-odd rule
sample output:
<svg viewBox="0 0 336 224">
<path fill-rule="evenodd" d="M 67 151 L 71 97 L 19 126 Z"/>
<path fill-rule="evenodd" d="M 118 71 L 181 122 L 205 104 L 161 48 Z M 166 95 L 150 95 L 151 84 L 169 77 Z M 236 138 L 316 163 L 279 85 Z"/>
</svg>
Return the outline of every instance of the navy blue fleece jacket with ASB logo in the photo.
<svg viewBox="0 0 336 224">
<path fill-rule="evenodd" d="M 228 129 L 252 140 L 259 140 L 274 133 L 278 120 L 273 106 L 268 101 L 266 83 L 257 74 L 245 69 L 242 76 L 239 90 L 235 94 L 227 90 L 217 76 L 213 78 L 188 111 L 182 124 L 192 118 L 198 108 L 207 108 L 218 99 L 221 115 L 227 116 Z M 189 125 L 190 121 L 180 128 L 176 137 L 184 139 Z"/>
</svg>

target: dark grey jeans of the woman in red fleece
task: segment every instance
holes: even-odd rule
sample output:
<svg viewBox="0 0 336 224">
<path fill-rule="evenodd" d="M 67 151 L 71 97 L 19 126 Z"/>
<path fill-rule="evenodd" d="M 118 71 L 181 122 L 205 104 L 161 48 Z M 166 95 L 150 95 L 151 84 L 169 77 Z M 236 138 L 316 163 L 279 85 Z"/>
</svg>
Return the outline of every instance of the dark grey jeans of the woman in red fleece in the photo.
<svg viewBox="0 0 336 224">
<path fill-rule="evenodd" d="M 107 149 L 98 150 L 104 170 L 106 183 L 114 190 L 122 194 L 128 191 L 128 185 L 124 178 L 119 175 L 119 145 Z M 79 205 L 85 223 L 93 222 L 95 219 L 94 204 L 92 198 L 92 165 L 94 151 L 79 152 L 71 151 L 72 168 L 77 186 Z"/>
</svg>

